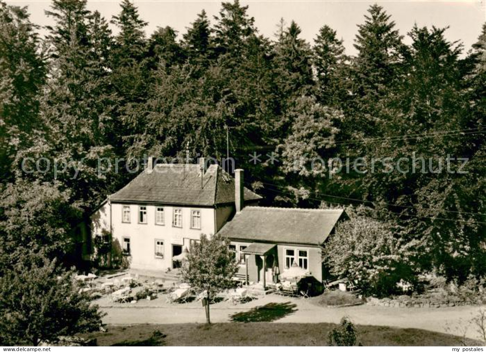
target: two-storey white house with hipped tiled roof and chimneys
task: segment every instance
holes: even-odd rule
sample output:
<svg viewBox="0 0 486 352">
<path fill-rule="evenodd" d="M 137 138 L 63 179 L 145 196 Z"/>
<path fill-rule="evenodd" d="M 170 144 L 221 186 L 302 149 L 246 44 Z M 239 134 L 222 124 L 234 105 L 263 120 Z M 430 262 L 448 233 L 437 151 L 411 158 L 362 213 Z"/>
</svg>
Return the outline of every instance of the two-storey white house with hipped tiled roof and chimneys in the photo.
<svg viewBox="0 0 486 352">
<path fill-rule="evenodd" d="M 235 171 L 238 182 L 243 182 L 242 173 Z M 206 168 L 204 158 L 200 165 L 155 166 L 149 158 L 144 171 L 93 213 L 91 233 L 95 243 L 109 248 L 108 264 L 112 248 L 118 247 L 133 269 L 172 269 L 178 264 L 173 257 L 201 234 L 219 231 L 235 213 L 235 204 L 258 204 L 261 197 L 243 189 L 235 202 L 240 194 L 233 177 L 217 165 Z"/>
</svg>

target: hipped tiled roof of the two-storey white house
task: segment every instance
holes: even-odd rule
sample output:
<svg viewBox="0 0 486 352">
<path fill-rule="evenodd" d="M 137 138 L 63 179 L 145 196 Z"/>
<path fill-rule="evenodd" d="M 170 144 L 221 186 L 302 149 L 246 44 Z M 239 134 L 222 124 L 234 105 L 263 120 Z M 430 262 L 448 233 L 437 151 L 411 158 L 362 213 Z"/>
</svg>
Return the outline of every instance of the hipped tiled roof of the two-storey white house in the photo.
<svg viewBox="0 0 486 352">
<path fill-rule="evenodd" d="M 152 172 L 143 170 L 110 201 L 213 206 L 235 201 L 235 181 L 218 165 L 210 165 L 203 176 L 196 164 L 157 164 Z M 244 188 L 245 201 L 261 197 Z"/>
</svg>

